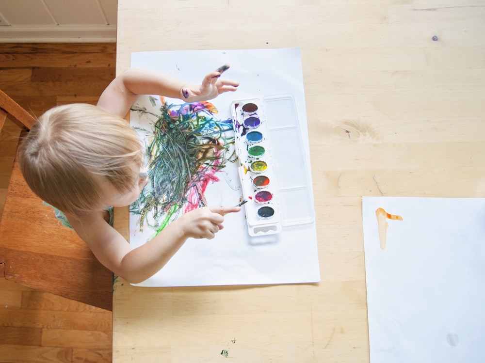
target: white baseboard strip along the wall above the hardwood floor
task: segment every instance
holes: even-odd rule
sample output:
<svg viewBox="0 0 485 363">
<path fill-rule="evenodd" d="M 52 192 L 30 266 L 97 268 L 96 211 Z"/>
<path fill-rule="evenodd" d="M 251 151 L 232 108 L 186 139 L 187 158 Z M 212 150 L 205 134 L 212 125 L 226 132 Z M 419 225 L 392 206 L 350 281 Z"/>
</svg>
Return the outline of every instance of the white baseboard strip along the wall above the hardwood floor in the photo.
<svg viewBox="0 0 485 363">
<path fill-rule="evenodd" d="M 0 43 L 114 43 L 116 25 L 0 27 Z"/>
</svg>

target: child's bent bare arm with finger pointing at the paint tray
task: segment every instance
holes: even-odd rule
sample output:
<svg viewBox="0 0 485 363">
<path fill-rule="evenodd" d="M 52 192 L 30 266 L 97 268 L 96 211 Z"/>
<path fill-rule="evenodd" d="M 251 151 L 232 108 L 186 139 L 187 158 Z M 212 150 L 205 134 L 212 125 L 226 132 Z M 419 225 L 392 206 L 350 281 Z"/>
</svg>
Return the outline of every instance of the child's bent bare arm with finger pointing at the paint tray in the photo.
<svg viewBox="0 0 485 363">
<path fill-rule="evenodd" d="M 136 249 L 131 248 L 102 219 L 101 214 L 82 222 L 75 219 L 69 221 L 99 262 L 127 282 L 140 283 L 165 266 L 187 238 L 213 238 L 223 228 L 223 215 L 240 210 L 239 206 L 195 209 L 170 223 L 157 237 Z"/>
</svg>

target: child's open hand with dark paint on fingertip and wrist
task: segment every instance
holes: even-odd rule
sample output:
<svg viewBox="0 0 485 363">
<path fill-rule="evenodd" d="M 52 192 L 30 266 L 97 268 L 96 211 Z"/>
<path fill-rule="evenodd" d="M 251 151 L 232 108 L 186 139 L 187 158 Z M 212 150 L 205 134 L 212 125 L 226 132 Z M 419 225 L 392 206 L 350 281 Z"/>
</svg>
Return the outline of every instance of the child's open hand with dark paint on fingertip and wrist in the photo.
<svg viewBox="0 0 485 363">
<path fill-rule="evenodd" d="M 186 84 L 180 90 L 182 99 L 186 102 L 206 101 L 224 92 L 234 92 L 239 86 L 239 82 L 230 79 L 220 79 L 221 75 L 229 69 L 228 64 L 224 64 L 217 70 L 210 72 L 202 80 L 202 84 L 193 86 Z"/>
</svg>

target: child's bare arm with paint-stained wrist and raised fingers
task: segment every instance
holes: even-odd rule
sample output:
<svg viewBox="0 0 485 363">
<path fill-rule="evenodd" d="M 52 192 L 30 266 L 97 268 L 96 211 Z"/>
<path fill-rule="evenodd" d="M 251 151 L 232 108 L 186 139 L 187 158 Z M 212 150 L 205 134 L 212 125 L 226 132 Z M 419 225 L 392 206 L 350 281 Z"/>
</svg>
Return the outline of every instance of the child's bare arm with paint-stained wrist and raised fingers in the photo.
<svg viewBox="0 0 485 363">
<path fill-rule="evenodd" d="M 238 82 L 220 79 L 227 69 L 228 66 L 223 66 L 210 72 L 200 85 L 195 86 L 159 71 L 128 68 L 108 85 L 99 97 L 97 106 L 125 117 L 138 95 L 162 95 L 186 102 L 212 99 L 237 89 Z"/>
</svg>

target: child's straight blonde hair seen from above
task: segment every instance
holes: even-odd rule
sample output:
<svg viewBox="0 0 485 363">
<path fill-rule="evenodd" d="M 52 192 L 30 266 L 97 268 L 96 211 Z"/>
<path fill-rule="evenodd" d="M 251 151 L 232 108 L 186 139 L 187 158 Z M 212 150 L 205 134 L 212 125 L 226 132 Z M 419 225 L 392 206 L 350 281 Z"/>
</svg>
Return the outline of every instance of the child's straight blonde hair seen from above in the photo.
<svg viewBox="0 0 485 363">
<path fill-rule="evenodd" d="M 99 209 L 99 176 L 119 191 L 135 182 L 143 164 L 135 130 L 116 115 L 88 104 L 57 106 L 44 113 L 19 146 L 22 174 L 32 191 L 65 213 Z"/>
</svg>

